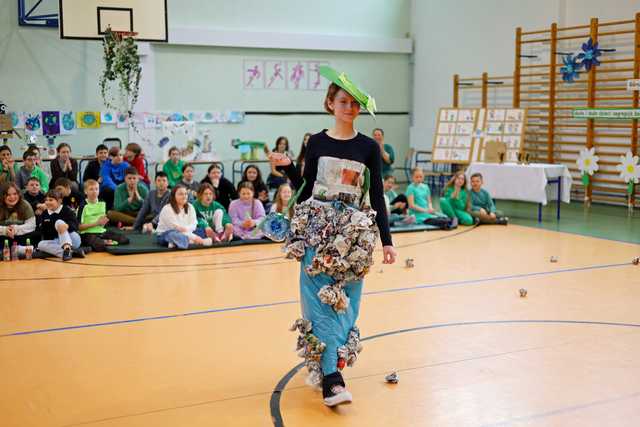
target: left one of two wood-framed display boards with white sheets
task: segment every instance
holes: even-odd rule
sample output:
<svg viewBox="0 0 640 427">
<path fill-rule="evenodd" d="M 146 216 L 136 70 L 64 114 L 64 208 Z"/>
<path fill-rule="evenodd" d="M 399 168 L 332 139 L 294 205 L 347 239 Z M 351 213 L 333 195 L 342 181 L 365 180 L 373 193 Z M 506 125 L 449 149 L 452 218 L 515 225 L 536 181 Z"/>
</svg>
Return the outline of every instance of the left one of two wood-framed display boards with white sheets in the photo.
<svg viewBox="0 0 640 427">
<path fill-rule="evenodd" d="M 484 122 L 478 108 L 441 108 L 433 142 L 433 163 L 467 165 L 474 158 L 474 147 Z"/>
</svg>

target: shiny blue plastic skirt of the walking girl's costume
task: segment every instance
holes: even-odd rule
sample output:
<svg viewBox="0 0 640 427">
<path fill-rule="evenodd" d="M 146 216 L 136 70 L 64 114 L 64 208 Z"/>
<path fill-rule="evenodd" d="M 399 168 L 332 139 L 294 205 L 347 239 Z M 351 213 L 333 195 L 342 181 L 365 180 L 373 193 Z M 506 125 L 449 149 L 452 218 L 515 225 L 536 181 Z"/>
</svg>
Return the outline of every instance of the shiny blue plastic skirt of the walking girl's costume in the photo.
<svg viewBox="0 0 640 427">
<path fill-rule="evenodd" d="M 300 300 L 302 316 L 311 321 L 313 334 L 327 345 L 321 361 L 322 373 L 326 376 L 338 370 L 338 347 L 347 342 L 349 332 L 358 319 L 362 280 L 348 282 L 345 285 L 349 307 L 346 313 L 338 314 L 333 307 L 320 301 L 317 295 L 323 286 L 334 284 L 336 281 L 324 273 L 309 276 L 305 271 L 305 267 L 311 264 L 314 256 L 315 250 L 307 248 L 300 263 Z"/>
</svg>

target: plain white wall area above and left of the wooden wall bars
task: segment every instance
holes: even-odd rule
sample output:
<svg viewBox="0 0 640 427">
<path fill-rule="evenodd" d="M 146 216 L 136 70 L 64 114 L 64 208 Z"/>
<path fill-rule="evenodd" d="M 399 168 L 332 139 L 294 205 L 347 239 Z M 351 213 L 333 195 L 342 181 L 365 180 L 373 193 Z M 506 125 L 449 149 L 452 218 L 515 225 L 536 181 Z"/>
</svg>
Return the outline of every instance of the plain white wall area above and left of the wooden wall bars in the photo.
<svg viewBox="0 0 640 427">
<path fill-rule="evenodd" d="M 429 149 L 436 112 L 453 102 L 453 75 L 513 74 L 515 29 L 633 19 L 638 0 L 414 0 L 411 146 Z"/>
</svg>

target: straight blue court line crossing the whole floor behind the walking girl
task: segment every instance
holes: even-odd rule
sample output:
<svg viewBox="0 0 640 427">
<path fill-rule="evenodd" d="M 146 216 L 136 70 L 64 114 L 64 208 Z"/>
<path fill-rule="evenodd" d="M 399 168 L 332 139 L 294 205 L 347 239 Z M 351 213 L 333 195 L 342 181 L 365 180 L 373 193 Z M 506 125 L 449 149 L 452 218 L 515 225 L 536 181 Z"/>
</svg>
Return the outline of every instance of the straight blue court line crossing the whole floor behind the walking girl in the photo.
<svg viewBox="0 0 640 427">
<path fill-rule="evenodd" d="M 416 285 L 416 286 L 403 287 L 403 288 L 392 288 L 392 289 L 383 289 L 379 291 L 363 292 L 363 295 L 366 295 L 366 296 L 380 295 L 380 294 L 388 294 L 388 293 L 414 291 L 414 290 L 420 290 L 420 289 L 461 286 L 461 285 L 468 285 L 472 283 L 498 282 L 498 281 L 509 280 L 509 279 L 548 276 L 553 274 L 564 274 L 564 273 L 572 273 L 572 272 L 578 272 L 578 271 L 604 270 L 608 268 L 628 267 L 630 265 L 631 265 L 630 263 L 625 262 L 625 263 L 619 263 L 619 264 L 603 264 L 603 265 L 594 265 L 594 266 L 587 266 L 587 267 L 540 271 L 540 272 L 533 272 L 533 273 L 511 274 L 506 276 L 495 276 L 495 277 L 488 277 L 488 278 L 481 278 L 481 279 L 456 280 L 452 282 L 424 284 L 424 285 Z M 164 320 L 164 319 L 173 319 L 178 317 L 198 316 L 198 315 L 213 314 L 213 313 L 224 313 L 224 312 L 230 312 L 230 311 L 253 310 L 253 309 L 259 309 L 259 308 L 297 304 L 298 302 L 299 300 L 276 301 L 276 302 L 270 302 L 270 303 L 252 304 L 252 305 L 244 305 L 244 306 L 236 306 L 236 307 L 212 308 L 208 310 L 200 310 L 200 311 L 193 311 L 193 312 L 186 312 L 186 313 L 167 314 L 167 315 L 160 315 L 160 316 L 148 316 L 148 317 L 140 317 L 140 318 L 134 318 L 134 319 L 125 319 L 125 320 L 113 320 L 109 322 L 86 323 L 86 324 L 80 324 L 80 325 L 62 326 L 57 328 L 35 329 L 35 330 L 29 330 L 29 331 L 19 331 L 19 332 L 11 332 L 8 334 L 2 334 L 0 335 L 0 338 L 14 337 L 14 336 L 20 336 L 20 335 L 34 335 L 34 334 L 44 334 L 44 333 L 51 333 L 51 332 L 61 332 L 61 331 L 69 331 L 69 330 L 75 330 L 75 329 L 98 328 L 98 327 L 104 327 L 104 326 L 140 323 L 140 322 L 145 322 L 149 320 Z"/>
</svg>

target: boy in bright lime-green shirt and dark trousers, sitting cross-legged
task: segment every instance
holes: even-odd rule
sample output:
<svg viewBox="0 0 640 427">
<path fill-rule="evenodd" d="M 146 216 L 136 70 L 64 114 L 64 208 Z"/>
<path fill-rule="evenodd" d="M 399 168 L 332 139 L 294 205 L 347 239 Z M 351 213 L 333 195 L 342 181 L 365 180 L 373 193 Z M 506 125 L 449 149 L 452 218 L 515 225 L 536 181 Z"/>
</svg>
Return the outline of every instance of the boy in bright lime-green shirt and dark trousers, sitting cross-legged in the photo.
<svg viewBox="0 0 640 427">
<path fill-rule="evenodd" d="M 109 222 L 107 204 L 98 200 L 100 194 L 98 181 L 93 179 L 85 181 L 84 194 L 87 196 L 87 201 L 78 212 L 82 244 L 90 246 L 96 252 L 104 252 L 107 246 L 128 244 L 129 239 L 124 234 L 108 231 L 105 228 Z"/>
</svg>

